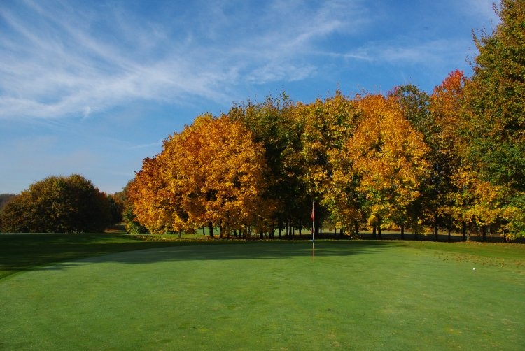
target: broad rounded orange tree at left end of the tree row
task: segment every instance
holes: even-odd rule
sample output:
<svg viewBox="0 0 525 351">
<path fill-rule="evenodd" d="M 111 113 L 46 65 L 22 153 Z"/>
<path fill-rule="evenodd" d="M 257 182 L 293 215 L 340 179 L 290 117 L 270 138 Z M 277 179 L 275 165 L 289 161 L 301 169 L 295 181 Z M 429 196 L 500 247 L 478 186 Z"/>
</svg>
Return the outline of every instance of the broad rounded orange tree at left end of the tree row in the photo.
<svg viewBox="0 0 525 351">
<path fill-rule="evenodd" d="M 144 160 L 128 189 L 137 221 L 152 233 L 207 226 L 229 232 L 263 228 L 272 208 L 262 201 L 266 169 L 251 131 L 223 115 L 197 117 Z M 221 231 L 222 233 L 222 231 Z"/>
</svg>

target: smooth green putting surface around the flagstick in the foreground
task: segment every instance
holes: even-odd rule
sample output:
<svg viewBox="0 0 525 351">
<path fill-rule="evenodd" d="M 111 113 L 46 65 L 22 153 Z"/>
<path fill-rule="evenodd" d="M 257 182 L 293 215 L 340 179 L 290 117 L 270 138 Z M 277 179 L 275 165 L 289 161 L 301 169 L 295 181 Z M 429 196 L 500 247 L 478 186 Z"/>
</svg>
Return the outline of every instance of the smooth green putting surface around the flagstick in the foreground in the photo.
<svg viewBox="0 0 525 351">
<path fill-rule="evenodd" d="M 489 245 L 193 245 L 52 264 L 0 280 L 0 349 L 519 350 L 524 250 Z"/>
</svg>

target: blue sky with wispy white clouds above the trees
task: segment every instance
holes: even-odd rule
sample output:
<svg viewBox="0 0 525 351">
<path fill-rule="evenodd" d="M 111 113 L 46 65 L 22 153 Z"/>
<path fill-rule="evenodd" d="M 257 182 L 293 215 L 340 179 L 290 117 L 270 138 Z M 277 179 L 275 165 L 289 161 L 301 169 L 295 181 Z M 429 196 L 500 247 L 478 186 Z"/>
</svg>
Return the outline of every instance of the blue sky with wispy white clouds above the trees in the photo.
<svg viewBox="0 0 525 351">
<path fill-rule="evenodd" d="M 72 173 L 118 192 L 234 102 L 430 93 L 497 22 L 492 0 L 1 0 L 0 194 Z"/>
</svg>

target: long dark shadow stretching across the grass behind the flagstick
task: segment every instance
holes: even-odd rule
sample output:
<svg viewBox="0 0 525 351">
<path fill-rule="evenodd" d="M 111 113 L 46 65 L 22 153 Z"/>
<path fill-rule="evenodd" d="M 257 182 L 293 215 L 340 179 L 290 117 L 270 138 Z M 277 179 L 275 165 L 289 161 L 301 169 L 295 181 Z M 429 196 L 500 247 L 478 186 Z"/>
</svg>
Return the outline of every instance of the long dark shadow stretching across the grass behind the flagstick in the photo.
<svg viewBox="0 0 525 351">
<path fill-rule="evenodd" d="M 314 256 L 370 254 L 402 245 L 383 241 L 316 241 Z M 119 252 L 127 253 L 111 255 Z M 0 278 L 20 271 L 64 269 L 69 265 L 61 262 L 85 257 L 94 257 L 90 262 L 148 264 L 187 260 L 286 259 L 311 255 L 311 241 L 183 242 L 139 241 L 132 236 L 114 234 L 2 234 Z"/>
</svg>

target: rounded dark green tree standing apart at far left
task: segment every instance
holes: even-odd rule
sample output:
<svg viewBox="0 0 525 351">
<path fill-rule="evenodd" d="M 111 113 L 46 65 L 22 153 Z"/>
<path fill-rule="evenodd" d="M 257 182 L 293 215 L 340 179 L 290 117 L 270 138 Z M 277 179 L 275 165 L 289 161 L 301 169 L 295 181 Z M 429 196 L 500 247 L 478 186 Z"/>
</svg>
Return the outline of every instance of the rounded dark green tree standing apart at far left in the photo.
<svg viewBox="0 0 525 351">
<path fill-rule="evenodd" d="M 0 217 L 6 232 L 97 232 L 111 222 L 106 194 L 78 174 L 35 182 Z"/>
</svg>

